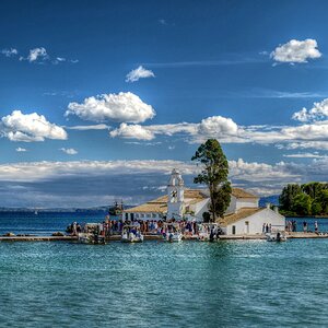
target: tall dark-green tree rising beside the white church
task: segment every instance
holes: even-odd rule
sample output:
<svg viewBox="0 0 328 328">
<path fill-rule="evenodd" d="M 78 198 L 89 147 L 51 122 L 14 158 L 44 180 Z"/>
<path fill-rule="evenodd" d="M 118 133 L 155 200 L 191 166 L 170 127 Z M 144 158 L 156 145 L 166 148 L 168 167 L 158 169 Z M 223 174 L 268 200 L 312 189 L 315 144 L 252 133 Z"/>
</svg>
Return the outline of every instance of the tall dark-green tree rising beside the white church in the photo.
<svg viewBox="0 0 328 328">
<path fill-rule="evenodd" d="M 231 201 L 231 184 L 227 180 L 229 164 L 218 140 L 209 139 L 202 143 L 191 161 L 202 166 L 195 177 L 195 184 L 204 184 L 210 191 L 210 212 L 212 220 L 223 216 Z"/>
</svg>

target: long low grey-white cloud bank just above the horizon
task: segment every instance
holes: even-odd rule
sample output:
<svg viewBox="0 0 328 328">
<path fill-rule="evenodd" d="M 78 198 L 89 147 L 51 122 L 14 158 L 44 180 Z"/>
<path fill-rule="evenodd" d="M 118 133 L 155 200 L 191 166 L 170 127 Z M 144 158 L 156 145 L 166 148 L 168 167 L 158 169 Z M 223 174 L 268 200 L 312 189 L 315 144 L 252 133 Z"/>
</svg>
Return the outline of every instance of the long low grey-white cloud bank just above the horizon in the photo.
<svg viewBox="0 0 328 328">
<path fill-rule="evenodd" d="M 230 178 L 259 196 L 276 195 L 291 181 L 325 180 L 328 159 L 309 161 L 307 165 L 267 164 L 239 159 L 229 162 Z M 181 171 L 187 187 L 199 187 L 192 184 L 199 167 L 172 160 L 0 164 L 0 197 L 3 206 L 15 207 L 89 207 L 110 204 L 115 199 L 139 203 L 165 192 L 163 186 L 174 167 Z"/>
</svg>

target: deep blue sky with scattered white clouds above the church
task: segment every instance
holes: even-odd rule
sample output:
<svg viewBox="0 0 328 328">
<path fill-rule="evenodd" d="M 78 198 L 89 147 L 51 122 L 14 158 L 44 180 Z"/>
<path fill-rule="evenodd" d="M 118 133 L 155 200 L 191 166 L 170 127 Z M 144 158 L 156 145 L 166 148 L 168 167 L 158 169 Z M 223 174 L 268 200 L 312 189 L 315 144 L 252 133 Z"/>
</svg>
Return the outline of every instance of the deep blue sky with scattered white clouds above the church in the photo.
<svg viewBox="0 0 328 328">
<path fill-rule="evenodd" d="M 77 5 L 78 3 L 78 5 Z M 327 180 L 327 1 L 1 1 L 0 207 L 138 203 L 215 138 L 234 186 Z"/>
</svg>

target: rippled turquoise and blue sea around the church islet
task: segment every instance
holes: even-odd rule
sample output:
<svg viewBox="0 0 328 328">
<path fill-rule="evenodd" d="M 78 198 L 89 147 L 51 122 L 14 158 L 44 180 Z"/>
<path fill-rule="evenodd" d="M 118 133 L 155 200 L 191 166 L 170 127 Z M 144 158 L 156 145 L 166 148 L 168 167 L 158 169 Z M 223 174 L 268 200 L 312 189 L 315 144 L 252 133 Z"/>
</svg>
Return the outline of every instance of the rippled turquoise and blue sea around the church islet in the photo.
<svg viewBox="0 0 328 328">
<path fill-rule="evenodd" d="M 1 213 L 0 234 L 103 218 Z M 327 250 L 328 239 L 2 242 L 0 327 L 327 327 Z"/>
</svg>

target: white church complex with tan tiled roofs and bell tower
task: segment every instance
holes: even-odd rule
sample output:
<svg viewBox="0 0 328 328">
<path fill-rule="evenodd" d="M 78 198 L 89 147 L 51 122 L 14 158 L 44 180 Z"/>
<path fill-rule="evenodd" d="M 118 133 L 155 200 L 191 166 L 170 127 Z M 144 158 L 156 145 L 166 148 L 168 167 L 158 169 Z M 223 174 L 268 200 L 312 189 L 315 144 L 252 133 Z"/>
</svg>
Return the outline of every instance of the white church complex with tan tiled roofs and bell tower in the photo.
<svg viewBox="0 0 328 328">
<path fill-rule="evenodd" d="M 210 196 L 207 189 L 185 188 L 184 179 L 173 169 L 167 185 L 167 195 L 124 211 L 124 220 L 187 219 L 202 222 L 209 211 Z M 224 218 L 218 220 L 227 235 L 261 234 L 263 225 L 284 231 L 285 218 L 278 210 L 259 208 L 259 197 L 241 188 L 232 188 L 231 203 Z"/>
</svg>

